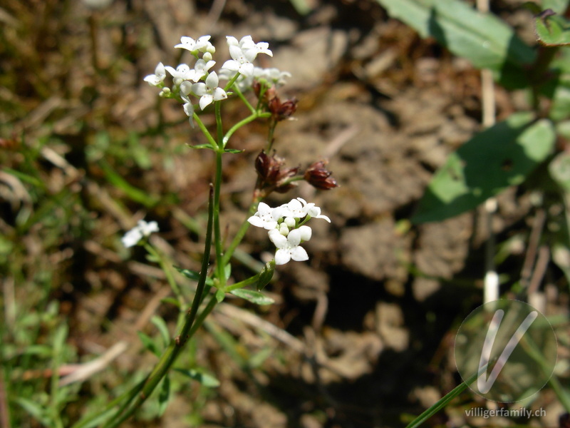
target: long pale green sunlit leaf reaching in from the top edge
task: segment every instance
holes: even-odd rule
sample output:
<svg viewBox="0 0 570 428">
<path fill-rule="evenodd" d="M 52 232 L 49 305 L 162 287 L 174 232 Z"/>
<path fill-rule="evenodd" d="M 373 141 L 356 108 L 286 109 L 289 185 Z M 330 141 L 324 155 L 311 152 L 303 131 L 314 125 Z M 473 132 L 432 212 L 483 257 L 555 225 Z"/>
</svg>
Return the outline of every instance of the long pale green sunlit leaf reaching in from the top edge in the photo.
<svg viewBox="0 0 570 428">
<path fill-rule="evenodd" d="M 460 0 L 377 1 L 420 36 L 432 36 L 475 67 L 494 71 L 505 88 L 527 85 L 525 66 L 534 61 L 534 49 L 497 16 L 481 14 Z"/>
</svg>

